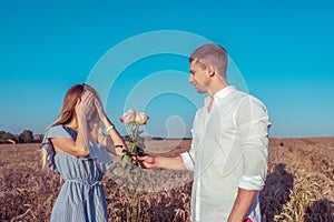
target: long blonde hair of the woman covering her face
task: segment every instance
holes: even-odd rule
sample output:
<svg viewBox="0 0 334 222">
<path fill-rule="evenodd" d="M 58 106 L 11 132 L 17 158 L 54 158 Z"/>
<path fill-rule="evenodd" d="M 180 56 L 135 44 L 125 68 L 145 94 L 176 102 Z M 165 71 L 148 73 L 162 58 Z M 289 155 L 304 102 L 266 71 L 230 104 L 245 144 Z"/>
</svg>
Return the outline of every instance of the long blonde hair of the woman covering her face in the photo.
<svg viewBox="0 0 334 222">
<path fill-rule="evenodd" d="M 95 98 L 99 101 L 99 103 L 102 104 L 99 93 L 89 84 L 86 83 L 75 84 L 67 91 L 63 98 L 60 114 L 58 115 L 57 120 L 46 129 L 46 132 L 53 125 L 67 124 L 72 120 L 76 113 L 75 109 L 76 109 L 77 101 L 78 99 L 81 98 L 85 90 L 92 92 Z M 99 122 L 98 113 L 95 110 L 95 112 L 92 113 L 92 118 L 88 120 L 88 129 L 90 130 L 90 133 L 94 135 L 94 138 L 97 140 L 97 143 L 106 144 L 107 137 L 104 134 L 104 131 L 99 127 L 99 123 L 100 122 Z M 48 162 L 47 159 L 48 159 L 47 150 L 41 149 L 42 169 L 46 169 Z"/>
</svg>

